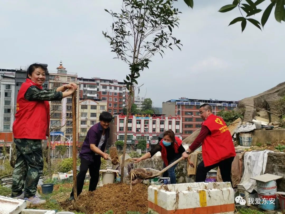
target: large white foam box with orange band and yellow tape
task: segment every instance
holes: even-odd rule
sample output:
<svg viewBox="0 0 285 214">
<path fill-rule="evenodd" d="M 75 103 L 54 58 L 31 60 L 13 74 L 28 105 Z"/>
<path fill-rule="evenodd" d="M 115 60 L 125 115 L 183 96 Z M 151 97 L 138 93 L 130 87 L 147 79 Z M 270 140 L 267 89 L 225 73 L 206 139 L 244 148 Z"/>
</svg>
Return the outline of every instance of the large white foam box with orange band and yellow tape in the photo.
<svg viewBox="0 0 285 214">
<path fill-rule="evenodd" d="M 235 210 L 234 199 L 234 191 L 229 182 L 148 187 L 148 211 L 156 214 L 230 214 Z"/>
</svg>

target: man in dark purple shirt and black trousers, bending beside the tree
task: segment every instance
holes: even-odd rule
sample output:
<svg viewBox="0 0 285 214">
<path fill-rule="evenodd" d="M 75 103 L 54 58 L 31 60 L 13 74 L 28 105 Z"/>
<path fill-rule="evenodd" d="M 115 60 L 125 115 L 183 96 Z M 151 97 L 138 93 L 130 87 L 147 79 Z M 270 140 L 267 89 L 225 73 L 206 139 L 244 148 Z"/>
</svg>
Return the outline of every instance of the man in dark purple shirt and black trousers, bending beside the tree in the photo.
<svg viewBox="0 0 285 214">
<path fill-rule="evenodd" d="M 110 122 L 112 115 L 109 112 L 102 112 L 99 116 L 100 122 L 93 125 L 87 132 L 83 142 L 80 157 L 80 172 L 77 174 L 77 195 L 82 192 L 84 179 L 89 169 L 90 183 L 89 191 L 94 191 L 99 181 L 99 170 L 101 157 L 107 160 L 108 154 L 105 153 L 107 141 L 110 134 Z M 70 200 L 74 199 L 73 189 Z"/>
</svg>

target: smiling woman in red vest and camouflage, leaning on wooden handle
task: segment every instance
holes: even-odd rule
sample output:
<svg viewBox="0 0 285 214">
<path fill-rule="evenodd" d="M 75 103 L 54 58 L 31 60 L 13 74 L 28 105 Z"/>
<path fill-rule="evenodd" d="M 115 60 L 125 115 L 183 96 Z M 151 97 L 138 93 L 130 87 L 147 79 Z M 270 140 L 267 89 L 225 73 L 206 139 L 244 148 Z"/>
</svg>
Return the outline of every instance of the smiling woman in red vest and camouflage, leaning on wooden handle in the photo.
<svg viewBox="0 0 285 214">
<path fill-rule="evenodd" d="M 44 167 L 42 140 L 49 135 L 48 101 L 60 101 L 73 94 L 77 88 L 76 84 L 69 83 L 54 89 L 43 89 L 47 72 L 47 68 L 42 64 L 31 64 L 28 67 L 26 82 L 21 85 L 18 92 L 17 112 L 13 123 L 17 159 L 13 171 L 11 197 L 25 199 L 28 204 L 46 202 L 35 194 Z"/>
</svg>

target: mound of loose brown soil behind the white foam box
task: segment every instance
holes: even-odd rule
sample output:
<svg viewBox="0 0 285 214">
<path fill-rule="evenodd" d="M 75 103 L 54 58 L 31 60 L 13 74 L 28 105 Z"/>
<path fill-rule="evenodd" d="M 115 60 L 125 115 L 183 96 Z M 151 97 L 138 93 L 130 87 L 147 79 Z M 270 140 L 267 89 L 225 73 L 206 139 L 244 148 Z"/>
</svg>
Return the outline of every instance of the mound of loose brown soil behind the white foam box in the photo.
<svg viewBox="0 0 285 214">
<path fill-rule="evenodd" d="M 113 210 L 114 214 L 126 214 L 127 211 L 147 213 L 147 185 L 138 183 L 130 185 L 126 183 L 112 183 L 104 185 L 93 192 L 81 193 L 78 203 L 89 213 L 106 213 Z M 70 208 L 71 203 L 64 201 L 63 207 Z"/>
</svg>

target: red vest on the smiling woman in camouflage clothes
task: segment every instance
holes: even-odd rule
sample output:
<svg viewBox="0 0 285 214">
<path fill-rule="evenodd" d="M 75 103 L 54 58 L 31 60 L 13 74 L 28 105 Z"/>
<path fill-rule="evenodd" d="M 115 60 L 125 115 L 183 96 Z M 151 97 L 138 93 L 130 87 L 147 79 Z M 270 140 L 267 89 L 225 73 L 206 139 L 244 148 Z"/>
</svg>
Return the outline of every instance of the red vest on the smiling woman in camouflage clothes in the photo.
<svg viewBox="0 0 285 214">
<path fill-rule="evenodd" d="M 26 79 L 18 92 L 15 121 L 13 123 L 14 138 L 45 140 L 49 134 L 50 105 L 48 101 L 28 101 L 25 93 L 30 86 L 38 86 Z"/>
</svg>

